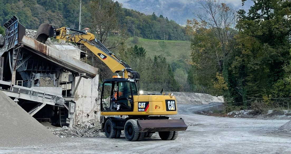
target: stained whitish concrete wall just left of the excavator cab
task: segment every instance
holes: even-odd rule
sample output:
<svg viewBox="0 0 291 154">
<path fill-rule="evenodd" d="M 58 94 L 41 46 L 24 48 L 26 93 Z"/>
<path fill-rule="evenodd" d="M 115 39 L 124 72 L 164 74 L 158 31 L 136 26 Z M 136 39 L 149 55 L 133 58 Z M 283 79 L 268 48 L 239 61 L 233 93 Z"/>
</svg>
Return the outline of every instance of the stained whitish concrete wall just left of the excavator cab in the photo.
<svg viewBox="0 0 291 154">
<path fill-rule="evenodd" d="M 76 77 L 76 84 L 79 77 Z M 74 123 L 100 119 L 100 99 L 98 98 L 99 75 L 93 79 L 82 78 L 75 94 L 76 113 Z"/>
</svg>

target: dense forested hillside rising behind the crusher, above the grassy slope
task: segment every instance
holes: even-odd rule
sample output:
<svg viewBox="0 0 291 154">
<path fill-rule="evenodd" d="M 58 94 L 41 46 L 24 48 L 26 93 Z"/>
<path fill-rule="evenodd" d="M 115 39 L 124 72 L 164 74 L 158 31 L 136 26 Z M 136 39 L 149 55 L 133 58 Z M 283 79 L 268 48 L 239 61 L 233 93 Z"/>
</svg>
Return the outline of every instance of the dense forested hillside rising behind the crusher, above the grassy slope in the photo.
<svg viewBox="0 0 291 154">
<path fill-rule="evenodd" d="M 94 1 L 82 1 L 81 28 L 95 28 L 92 17 L 104 18 L 107 15 L 95 14 L 90 4 Z M 16 15 L 20 22 L 28 29 L 38 29 L 42 23 L 57 26 L 78 28 L 79 0 L 0 0 L 0 23 L 3 25 L 10 17 Z M 115 2 L 114 9 L 118 12 L 119 27 L 115 31 L 125 29 L 129 36 L 138 36 L 156 40 L 187 40 L 185 28 L 175 21 L 155 13 L 145 15 L 138 11 L 122 8 L 122 4 Z M 92 16 L 92 13 L 94 14 Z"/>
</svg>

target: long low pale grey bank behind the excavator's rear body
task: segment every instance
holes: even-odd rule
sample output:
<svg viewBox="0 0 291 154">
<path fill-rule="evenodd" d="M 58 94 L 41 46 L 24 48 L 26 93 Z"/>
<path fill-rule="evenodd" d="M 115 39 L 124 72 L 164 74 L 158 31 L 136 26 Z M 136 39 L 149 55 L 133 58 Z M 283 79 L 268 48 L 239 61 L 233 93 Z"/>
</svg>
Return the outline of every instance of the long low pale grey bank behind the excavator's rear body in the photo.
<svg viewBox="0 0 291 154">
<path fill-rule="evenodd" d="M 145 91 L 145 94 L 160 93 L 157 91 Z M 169 92 L 165 92 L 168 95 Z M 206 93 L 182 93 L 182 92 L 171 92 L 176 97 L 178 104 L 192 104 L 192 105 L 203 105 L 212 102 L 223 102 L 222 96 L 212 96 Z"/>
</svg>

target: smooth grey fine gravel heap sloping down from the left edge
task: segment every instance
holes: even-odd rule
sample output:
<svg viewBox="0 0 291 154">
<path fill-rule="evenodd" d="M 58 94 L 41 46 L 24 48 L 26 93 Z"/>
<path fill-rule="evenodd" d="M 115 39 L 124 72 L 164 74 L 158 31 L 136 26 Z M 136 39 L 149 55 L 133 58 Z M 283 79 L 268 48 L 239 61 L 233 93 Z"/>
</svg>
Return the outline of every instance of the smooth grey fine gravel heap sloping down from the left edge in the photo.
<svg viewBox="0 0 291 154">
<path fill-rule="evenodd" d="M 0 91 L 0 147 L 41 146 L 58 138 Z"/>
</svg>

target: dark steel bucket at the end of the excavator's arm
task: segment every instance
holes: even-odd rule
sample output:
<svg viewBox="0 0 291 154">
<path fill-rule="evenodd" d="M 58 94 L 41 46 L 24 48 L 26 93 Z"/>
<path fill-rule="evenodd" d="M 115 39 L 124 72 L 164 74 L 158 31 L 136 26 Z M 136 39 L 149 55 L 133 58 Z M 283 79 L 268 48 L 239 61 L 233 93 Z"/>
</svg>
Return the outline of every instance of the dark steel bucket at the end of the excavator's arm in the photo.
<svg viewBox="0 0 291 154">
<path fill-rule="evenodd" d="M 51 24 L 41 24 L 36 32 L 36 40 L 45 43 L 49 36 L 56 36 L 56 26 Z"/>
</svg>

